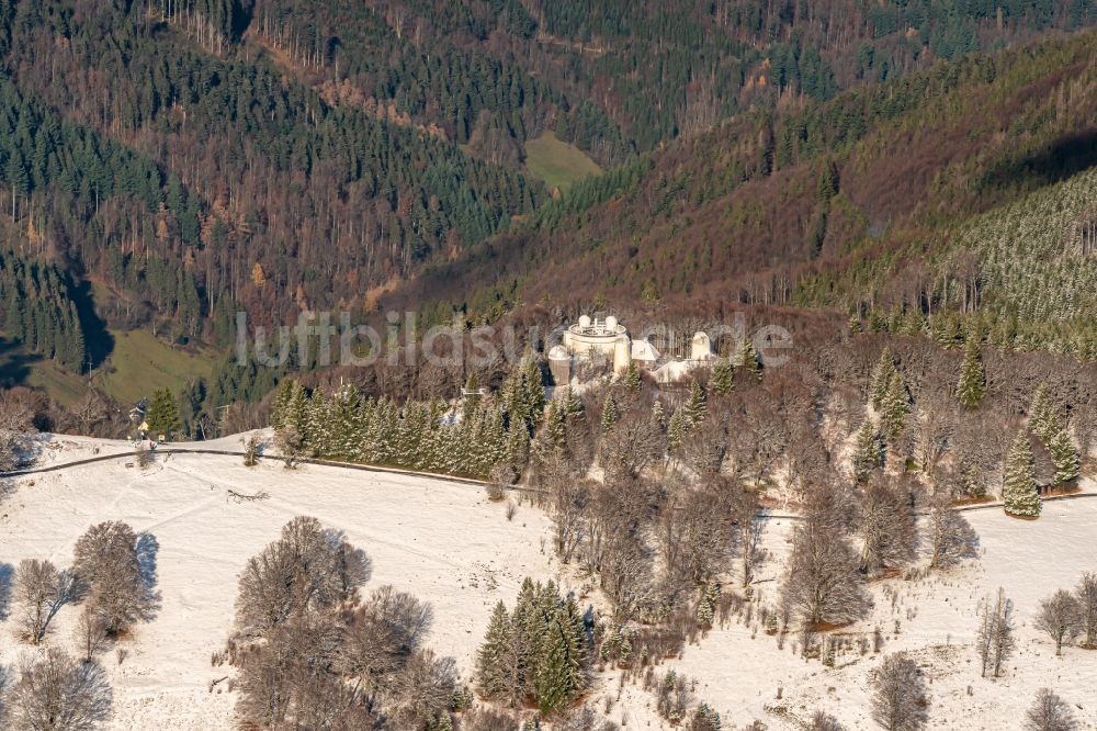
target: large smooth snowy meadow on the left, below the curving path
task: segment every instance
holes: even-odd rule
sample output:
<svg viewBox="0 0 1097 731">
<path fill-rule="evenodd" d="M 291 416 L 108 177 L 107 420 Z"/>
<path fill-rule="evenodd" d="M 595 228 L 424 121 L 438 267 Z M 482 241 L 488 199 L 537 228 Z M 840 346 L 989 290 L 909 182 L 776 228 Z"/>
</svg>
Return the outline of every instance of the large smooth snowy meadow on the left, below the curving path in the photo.
<svg viewBox="0 0 1097 731">
<path fill-rule="evenodd" d="M 94 449 L 93 440 L 58 439 L 71 440 L 79 456 L 60 460 Z M 100 453 L 118 443 L 102 442 Z M 122 442 L 120 451 L 129 449 Z M 228 499 L 229 488 L 270 497 L 239 503 Z M 0 504 L 0 565 L 36 558 L 67 566 L 77 538 L 102 520 L 125 520 L 155 536 L 161 608 L 120 645 L 127 651 L 121 664 L 114 652 L 104 657 L 115 694 L 109 728 L 229 729 L 234 696 L 207 686 L 230 668 L 213 667 L 211 654 L 228 637 L 238 572 L 296 515 L 344 530 L 369 553 L 366 592 L 393 584 L 429 600 L 430 644 L 466 673 L 495 603 L 512 603 L 524 576 L 550 571 L 543 515 L 519 506 L 508 521 L 504 505 L 488 503 L 473 485 L 315 465 L 287 472 L 275 462 L 248 469 L 239 458 L 191 454 L 162 454 L 147 472 L 118 460 L 20 479 Z M 77 612 L 63 607 L 47 642 L 71 650 Z M 8 664 L 29 652 L 13 630 L 12 618 L 0 621 L 0 659 Z"/>
</svg>

